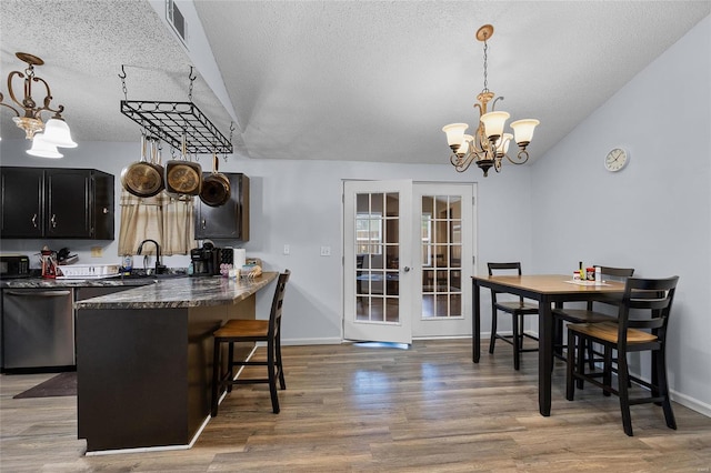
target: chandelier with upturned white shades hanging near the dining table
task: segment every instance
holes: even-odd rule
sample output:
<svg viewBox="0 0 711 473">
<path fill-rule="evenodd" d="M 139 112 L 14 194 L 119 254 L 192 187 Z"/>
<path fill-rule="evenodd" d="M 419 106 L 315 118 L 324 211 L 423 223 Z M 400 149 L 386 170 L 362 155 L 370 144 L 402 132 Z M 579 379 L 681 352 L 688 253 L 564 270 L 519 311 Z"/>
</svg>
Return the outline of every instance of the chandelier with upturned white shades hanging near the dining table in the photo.
<svg viewBox="0 0 711 473">
<path fill-rule="evenodd" d="M 479 103 L 474 103 L 474 108 L 479 109 L 479 125 L 474 134 L 465 134 L 469 124 L 451 123 L 442 128 L 447 133 L 447 142 L 452 150 L 449 160 L 458 172 L 464 172 L 472 162 L 475 162 L 484 172 L 484 178 L 489 173 L 489 169 L 501 171 L 501 161 L 505 157 L 513 164 L 523 164 L 529 160 L 529 153 L 525 147 L 529 145 L 533 138 L 533 130 L 540 123 L 534 119 L 518 120 L 511 123 L 513 133 L 504 133 L 505 122 L 511 117 L 507 112 L 493 111 L 494 105 L 503 97 L 495 97 L 487 87 L 487 40 L 493 34 L 493 27 L 484 24 L 477 31 L 477 39 L 484 43 L 484 88 L 477 95 Z M 493 101 L 492 101 L 493 99 Z M 491 102 L 491 111 L 487 111 L 487 107 Z M 511 158 L 508 154 L 509 144 L 514 140 L 519 145 L 519 152 Z"/>
</svg>

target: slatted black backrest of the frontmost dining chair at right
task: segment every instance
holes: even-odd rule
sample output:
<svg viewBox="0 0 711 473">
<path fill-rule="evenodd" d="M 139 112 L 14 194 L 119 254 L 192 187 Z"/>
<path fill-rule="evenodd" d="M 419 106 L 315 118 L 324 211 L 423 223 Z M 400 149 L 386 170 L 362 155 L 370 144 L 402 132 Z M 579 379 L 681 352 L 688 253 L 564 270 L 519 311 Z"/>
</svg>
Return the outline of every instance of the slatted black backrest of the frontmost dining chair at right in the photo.
<svg viewBox="0 0 711 473">
<path fill-rule="evenodd" d="M 661 342 L 664 341 L 678 282 L 679 276 L 627 280 L 618 314 L 621 343 L 625 343 L 623 334 L 628 329 L 649 329 Z M 634 310 L 634 319 L 630 318 L 631 310 Z"/>
</svg>

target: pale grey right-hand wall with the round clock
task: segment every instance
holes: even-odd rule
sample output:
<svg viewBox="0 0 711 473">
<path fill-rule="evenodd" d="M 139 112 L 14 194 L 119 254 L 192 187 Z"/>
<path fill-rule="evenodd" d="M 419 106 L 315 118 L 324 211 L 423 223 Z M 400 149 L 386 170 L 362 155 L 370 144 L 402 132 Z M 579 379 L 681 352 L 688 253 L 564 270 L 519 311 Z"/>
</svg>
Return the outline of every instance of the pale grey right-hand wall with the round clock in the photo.
<svg viewBox="0 0 711 473">
<path fill-rule="evenodd" d="M 677 400 L 708 415 L 710 84 L 707 18 L 532 167 L 535 271 L 568 273 L 582 260 L 639 276 L 678 274 L 670 383 Z M 610 173 L 602 163 L 614 147 L 631 158 Z"/>
</svg>

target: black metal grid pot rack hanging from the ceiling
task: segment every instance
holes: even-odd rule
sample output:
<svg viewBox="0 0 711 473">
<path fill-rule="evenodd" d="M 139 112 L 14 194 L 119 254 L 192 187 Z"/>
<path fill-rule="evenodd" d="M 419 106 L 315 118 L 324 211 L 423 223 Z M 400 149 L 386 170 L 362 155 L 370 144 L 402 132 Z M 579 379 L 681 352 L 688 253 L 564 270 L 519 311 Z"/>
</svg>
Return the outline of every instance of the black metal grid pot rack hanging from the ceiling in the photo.
<svg viewBox="0 0 711 473">
<path fill-rule="evenodd" d="M 192 102 L 121 100 L 121 113 L 180 150 L 186 137 L 189 154 L 232 153 L 232 143 Z"/>
</svg>

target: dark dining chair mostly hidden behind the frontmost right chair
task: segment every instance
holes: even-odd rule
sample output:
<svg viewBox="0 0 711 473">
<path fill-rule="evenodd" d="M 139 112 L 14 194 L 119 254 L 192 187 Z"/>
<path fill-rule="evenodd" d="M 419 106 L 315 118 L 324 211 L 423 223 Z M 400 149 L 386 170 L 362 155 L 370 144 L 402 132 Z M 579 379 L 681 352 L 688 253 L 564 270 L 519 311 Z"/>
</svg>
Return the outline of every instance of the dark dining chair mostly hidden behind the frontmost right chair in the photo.
<svg viewBox="0 0 711 473">
<path fill-rule="evenodd" d="M 603 280 L 623 280 L 627 278 L 631 278 L 634 274 L 634 268 L 600 266 L 600 273 L 602 274 Z M 619 299 L 601 296 L 601 299 L 597 301 L 588 301 L 585 309 L 554 308 L 551 311 L 551 314 L 553 315 L 553 340 L 555 341 L 553 354 L 557 358 L 565 361 L 565 355 L 562 352 L 562 349 L 564 348 L 562 340 L 563 323 L 595 323 L 615 321 L 617 316 L 614 314 L 617 311 L 613 309 L 608 309 L 608 313 L 600 312 L 599 309 L 602 309 L 603 305 L 599 304 L 605 304 L 610 306 L 617 305 L 619 304 Z M 598 311 L 595 311 L 594 309 L 598 309 Z M 589 344 L 587 346 L 585 352 L 588 353 L 588 363 L 590 364 L 590 369 L 592 369 L 595 362 L 595 352 L 592 344 Z M 582 386 L 582 384 L 579 384 L 579 386 Z"/>
</svg>

